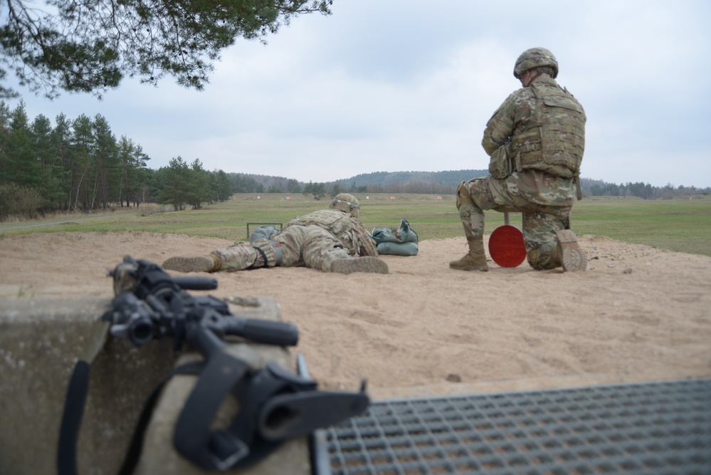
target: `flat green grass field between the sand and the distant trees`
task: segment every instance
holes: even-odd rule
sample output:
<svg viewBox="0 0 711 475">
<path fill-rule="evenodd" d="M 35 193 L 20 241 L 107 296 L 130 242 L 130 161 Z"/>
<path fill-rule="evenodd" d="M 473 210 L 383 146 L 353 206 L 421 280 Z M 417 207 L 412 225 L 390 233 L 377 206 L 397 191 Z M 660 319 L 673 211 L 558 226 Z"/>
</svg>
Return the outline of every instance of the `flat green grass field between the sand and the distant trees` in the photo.
<svg viewBox="0 0 711 475">
<path fill-rule="evenodd" d="M 391 196 L 394 199 L 391 199 Z M 410 222 L 420 240 L 463 236 L 455 197 L 435 194 L 357 194 L 361 219 L 369 230 Z M 12 234 L 58 231 L 148 231 L 208 236 L 234 241 L 247 239 L 258 223 L 286 224 L 294 216 L 328 207 L 302 194 L 237 194 L 228 202 L 199 210 L 174 212 L 145 205 L 102 214 L 53 216 L 40 221 L 0 224 L 0 239 Z M 589 197 L 575 204 L 572 228 L 577 234 L 607 236 L 690 254 L 711 256 L 711 198 L 643 200 Z M 503 224 L 503 215 L 487 212 L 486 232 Z M 41 224 L 41 226 L 38 226 Z M 520 226 L 520 214 L 511 215 Z M 0 244 L 1 246 L 1 244 Z"/>
</svg>

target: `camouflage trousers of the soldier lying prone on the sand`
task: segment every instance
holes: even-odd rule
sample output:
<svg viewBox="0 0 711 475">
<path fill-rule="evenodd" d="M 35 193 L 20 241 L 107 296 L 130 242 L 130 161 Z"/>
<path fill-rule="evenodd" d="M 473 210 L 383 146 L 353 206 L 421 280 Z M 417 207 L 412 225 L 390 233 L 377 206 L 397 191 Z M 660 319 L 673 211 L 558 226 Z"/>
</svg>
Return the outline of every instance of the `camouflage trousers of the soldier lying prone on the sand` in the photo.
<svg viewBox="0 0 711 475">
<path fill-rule="evenodd" d="M 289 226 L 269 239 L 238 242 L 212 251 L 220 258 L 221 271 L 260 267 L 310 267 L 330 271 L 336 259 L 351 259 L 348 251 L 330 232 L 319 226 Z"/>
</svg>

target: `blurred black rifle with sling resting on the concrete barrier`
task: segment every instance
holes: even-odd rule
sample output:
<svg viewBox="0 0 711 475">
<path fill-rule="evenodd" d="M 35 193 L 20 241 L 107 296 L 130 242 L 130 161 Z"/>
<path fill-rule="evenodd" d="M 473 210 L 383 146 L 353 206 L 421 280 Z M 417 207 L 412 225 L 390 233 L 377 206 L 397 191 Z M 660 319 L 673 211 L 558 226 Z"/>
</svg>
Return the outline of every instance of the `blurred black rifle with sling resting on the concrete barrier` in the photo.
<svg viewBox="0 0 711 475">
<path fill-rule="evenodd" d="M 115 298 L 102 317 L 110 333 L 137 347 L 159 338 L 173 338 L 174 348 L 187 346 L 204 356 L 173 370 L 149 398 L 121 469 L 130 474 L 138 462 L 144 429 L 165 382 L 175 374 L 199 374 L 194 390 L 177 420 L 174 446 L 186 458 L 209 470 L 227 470 L 259 461 L 286 439 L 302 437 L 367 409 L 369 398 L 362 382 L 359 392 L 325 392 L 314 381 L 294 375 L 274 363 L 253 370 L 248 362 L 226 351 L 223 339 L 234 335 L 268 345 L 293 346 L 298 329 L 290 323 L 233 315 L 226 303 L 212 296 L 193 296 L 186 290 L 213 290 L 214 278 L 169 276 L 160 266 L 126 256 L 113 271 Z M 78 372 L 75 370 L 75 372 Z M 70 382 L 60 431 L 59 474 L 74 474 L 75 441 L 81 411 L 77 390 L 86 381 Z M 79 378 L 79 379 L 82 379 Z M 74 397 L 70 397 L 75 392 Z M 232 393 L 239 412 L 226 429 L 211 425 L 223 399 Z M 78 420 L 77 420 L 78 417 Z M 77 433 L 74 433 L 76 431 Z"/>
</svg>

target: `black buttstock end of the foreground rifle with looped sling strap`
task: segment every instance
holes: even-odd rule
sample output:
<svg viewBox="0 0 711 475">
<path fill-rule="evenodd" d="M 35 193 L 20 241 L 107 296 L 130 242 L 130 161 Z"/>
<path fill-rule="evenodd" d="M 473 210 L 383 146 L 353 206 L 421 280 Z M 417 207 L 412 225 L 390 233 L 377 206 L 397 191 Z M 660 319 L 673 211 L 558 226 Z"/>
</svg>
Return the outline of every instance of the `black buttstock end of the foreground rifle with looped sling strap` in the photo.
<svg viewBox="0 0 711 475">
<path fill-rule="evenodd" d="M 202 368 L 179 415 L 173 442 L 187 459 L 209 470 L 251 466 L 286 439 L 303 437 L 367 409 L 364 392 L 322 392 L 316 382 L 273 362 L 257 371 L 221 350 Z M 211 429 L 228 392 L 239 411 L 227 429 Z M 327 408 L 327 409 L 325 409 Z"/>
</svg>

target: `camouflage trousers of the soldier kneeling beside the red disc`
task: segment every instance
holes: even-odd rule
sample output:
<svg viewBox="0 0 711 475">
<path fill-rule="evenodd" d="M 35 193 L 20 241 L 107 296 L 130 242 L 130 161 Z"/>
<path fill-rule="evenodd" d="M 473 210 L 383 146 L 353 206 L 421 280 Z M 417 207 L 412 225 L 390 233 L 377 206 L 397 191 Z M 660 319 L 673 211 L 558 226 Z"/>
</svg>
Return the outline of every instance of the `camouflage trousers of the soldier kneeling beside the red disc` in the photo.
<svg viewBox="0 0 711 475">
<path fill-rule="evenodd" d="M 462 182 L 457 209 L 467 236 L 483 236 L 485 209 L 523 214 L 523 240 L 530 266 L 539 271 L 559 266 L 552 262 L 556 232 L 570 227 L 575 187 L 572 179 L 530 169 L 505 179 L 491 175 Z"/>
</svg>

